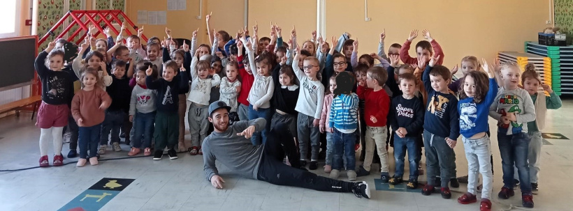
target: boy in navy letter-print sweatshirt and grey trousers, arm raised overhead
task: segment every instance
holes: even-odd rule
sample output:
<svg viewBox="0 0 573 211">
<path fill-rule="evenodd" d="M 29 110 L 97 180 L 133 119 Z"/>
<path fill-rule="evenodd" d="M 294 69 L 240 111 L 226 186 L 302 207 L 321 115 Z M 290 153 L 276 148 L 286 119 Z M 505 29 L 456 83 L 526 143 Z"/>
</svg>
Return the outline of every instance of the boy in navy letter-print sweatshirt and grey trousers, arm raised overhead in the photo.
<svg viewBox="0 0 573 211">
<path fill-rule="evenodd" d="M 451 73 L 448 68 L 437 65 L 439 58 L 432 57 L 423 72 L 423 85 L 431 98 L 424 116 L 423 143 L 428 184 L 423 187 L 422 194 L 429 196 L 434 192 L 434 187 L 440 185 L 435 182 L 436 175 L 440 173 L 442 198 L 451 198 L 448 183 L 456 175 L 454 147 L 460 136 L 460 122 L 458 99 L 448 89 Z M 422 59 L 428 60 L 426 56 Z"/>
</svg>

